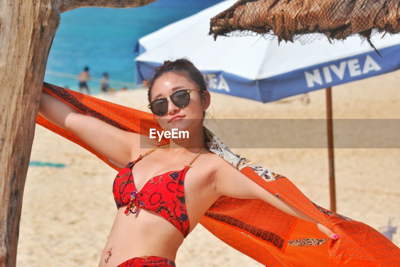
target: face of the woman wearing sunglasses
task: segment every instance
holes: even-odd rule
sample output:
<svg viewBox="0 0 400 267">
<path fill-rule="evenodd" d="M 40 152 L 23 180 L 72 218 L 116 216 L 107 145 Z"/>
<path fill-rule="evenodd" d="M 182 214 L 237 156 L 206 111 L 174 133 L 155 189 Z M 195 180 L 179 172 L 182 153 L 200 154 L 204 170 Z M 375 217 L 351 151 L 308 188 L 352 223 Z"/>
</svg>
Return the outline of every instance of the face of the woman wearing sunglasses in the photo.
<svg viewBox="0 0 400 267">
<path fill-rule="evenodd" d="M 153 83 L 150 91 L 150 102 L 157 98 L 163 98 L 171 95 L 175 91 L 182 89 L 198 89 L 189 77 L 186 71 L 170 71 L 162 74 Z M 202 97 L 199 91 L 192 91 L 190 93 L 190 101 L 186 107 L 177 107 L 168 100 L 168 112 L 163 116 L 157 116 L 158 123 L 164 130 L 170 131 L 172 128 L 179 130 L 189 131 L 194 129 L 194 126 L 203 121 L 203 111 L 210 105 L 210 93 L 205 91 Z"/>
</svg>

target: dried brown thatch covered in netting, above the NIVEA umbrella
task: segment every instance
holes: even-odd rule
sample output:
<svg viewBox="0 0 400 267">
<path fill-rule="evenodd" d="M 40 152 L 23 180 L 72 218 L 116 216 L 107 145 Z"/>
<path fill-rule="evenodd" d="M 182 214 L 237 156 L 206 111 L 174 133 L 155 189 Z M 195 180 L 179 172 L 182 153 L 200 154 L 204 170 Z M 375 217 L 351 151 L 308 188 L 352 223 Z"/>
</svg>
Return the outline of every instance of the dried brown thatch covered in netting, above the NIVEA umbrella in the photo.
<svg viewBox="0 0 400 267">
<path fill-rule="evenodd" d="M 399 0 L 239 0 L 214 16 L 210 34 L 246 31 L 273 34 L 278 41 L 320 32 L 329 39 L 352 34 L 369 37 L 378 32 L 400 32 Z"/>
</svg>

